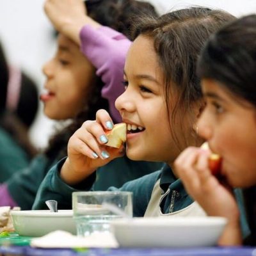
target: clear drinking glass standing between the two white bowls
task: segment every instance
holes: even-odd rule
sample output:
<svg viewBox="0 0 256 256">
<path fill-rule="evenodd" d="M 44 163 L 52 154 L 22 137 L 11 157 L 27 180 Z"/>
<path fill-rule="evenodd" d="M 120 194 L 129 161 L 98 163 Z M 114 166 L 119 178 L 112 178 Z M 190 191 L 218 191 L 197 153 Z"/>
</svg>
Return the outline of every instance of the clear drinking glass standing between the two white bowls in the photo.
<svg viewBox="0 0 256 256">
<path fill-rule="evenodd" d="M 110 222 L 123 216 L 104 206 L 113 204 L 132 217 L 132 192 L 82 191 L 72 193 L 72 208 L 77 236 L 89 236 L 94 232 L 110 232 Z"/>
</svg>

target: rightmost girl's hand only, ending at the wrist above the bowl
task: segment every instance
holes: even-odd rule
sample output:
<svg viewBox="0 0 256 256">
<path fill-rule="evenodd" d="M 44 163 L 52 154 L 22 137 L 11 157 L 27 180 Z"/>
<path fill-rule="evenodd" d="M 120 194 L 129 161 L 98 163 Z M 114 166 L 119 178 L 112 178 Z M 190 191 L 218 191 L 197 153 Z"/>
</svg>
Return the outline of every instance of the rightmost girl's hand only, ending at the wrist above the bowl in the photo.
<svg viewBox="0 0 256 256">
<path fill-rule="evenodd" d="M 208 166 L 209 154 L 200 148 L 187 148 L 175 160 L 175 172 L 189 195 L 202 205 L 207 214 L 225 216 L 229 212 L 228 204 L 232 212 L 237 211 L 236 200 L 232 189 L 212 175 Z"/>
</svg>

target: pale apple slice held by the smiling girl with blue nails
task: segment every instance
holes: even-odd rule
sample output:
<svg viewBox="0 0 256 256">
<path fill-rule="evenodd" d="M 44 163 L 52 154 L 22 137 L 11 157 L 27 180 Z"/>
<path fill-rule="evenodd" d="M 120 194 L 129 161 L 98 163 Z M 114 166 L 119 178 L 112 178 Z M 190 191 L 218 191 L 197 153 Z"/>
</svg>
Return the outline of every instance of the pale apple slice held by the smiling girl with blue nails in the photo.
<svg viewBox="0 0 256 256">
<path fill-rule="evenodd" d="M 120 148 L 126 141 L 126 124 L 115 124 L 111 131 L 106 132 L 106 135 L 108 137 L 108 143 L 105 144 L 106 146 Z"/>
</svg>

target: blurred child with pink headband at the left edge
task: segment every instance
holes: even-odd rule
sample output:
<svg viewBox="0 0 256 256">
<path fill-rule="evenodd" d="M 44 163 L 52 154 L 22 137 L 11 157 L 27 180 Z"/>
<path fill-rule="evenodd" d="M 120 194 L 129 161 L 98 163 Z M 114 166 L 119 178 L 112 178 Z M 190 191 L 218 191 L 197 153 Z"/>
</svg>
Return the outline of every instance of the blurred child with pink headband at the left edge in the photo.
<svg viewBox="0 0 256 256">
<path fill-rule="evenodd" d="M 19 68 L 10 65 L 0 44 L 0 182 L 28 166 L 36 154 L 29 129 L 38 111 L 38 89 Z"/>
</svg>

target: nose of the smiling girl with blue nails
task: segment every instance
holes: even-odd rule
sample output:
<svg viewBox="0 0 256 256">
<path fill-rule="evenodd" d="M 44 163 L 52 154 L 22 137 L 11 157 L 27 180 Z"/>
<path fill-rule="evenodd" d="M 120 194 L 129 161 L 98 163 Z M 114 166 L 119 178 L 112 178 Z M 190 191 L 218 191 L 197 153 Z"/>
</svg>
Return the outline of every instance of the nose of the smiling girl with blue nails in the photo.
<svg viewBox="0 0 256 256">
<path fill-rule="evenodd" d="M 134 97 L 133 97 L 134 99 Z M 122 115 L 122 112 L 127 111 L 127 112 L 132 112 L 135 109 L 134 106 L 134 101 L 132 100 L 132 95 L 127 88 L 124 93 L 122 93 L 115 101 L 115 106 L 116 109 L 120 112 Z"/>
</svg>

